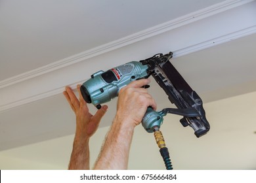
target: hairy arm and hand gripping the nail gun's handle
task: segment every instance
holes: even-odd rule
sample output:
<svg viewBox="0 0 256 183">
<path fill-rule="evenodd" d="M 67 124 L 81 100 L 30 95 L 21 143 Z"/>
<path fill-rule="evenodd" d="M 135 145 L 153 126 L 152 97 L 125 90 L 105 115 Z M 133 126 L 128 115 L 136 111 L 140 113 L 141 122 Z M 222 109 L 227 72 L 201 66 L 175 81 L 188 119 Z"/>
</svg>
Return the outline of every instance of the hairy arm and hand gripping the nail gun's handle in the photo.
<svg viewBox="0 0 256 183">
<path fill-rule="evenodd" d="M 142 121 L 147 107 L 156 109 L 152 96 L 141 88 L 149 82 L 137 80 L 120 90 L 116 116 L 94 169 L 127 169 L 134 129 Z"/>
</svg>

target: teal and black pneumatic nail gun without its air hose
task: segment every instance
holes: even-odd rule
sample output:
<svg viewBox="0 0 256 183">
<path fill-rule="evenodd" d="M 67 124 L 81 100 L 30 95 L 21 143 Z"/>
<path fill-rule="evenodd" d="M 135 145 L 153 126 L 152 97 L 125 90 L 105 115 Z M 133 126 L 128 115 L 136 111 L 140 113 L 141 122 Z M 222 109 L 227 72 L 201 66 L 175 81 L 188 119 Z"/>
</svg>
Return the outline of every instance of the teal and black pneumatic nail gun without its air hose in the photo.
<svg viewBox="0 0 256 183">
<path fill-rule="evenodd" d="M 152 75 L 168 95 L 169 101 L 177 108 L 164 108 L 156 112 L 149 107 L 142 120 L 144 129 L 152 133 L 155 127 L 162 124 L 163 116 L 171 113 L 183 116 L 181 124 L 184 127 L 189 125 L 194 129 L 196 137 L 201 137 L 210 128 L 205 118 L 202 99 L 173 67 L 169 61 L 172 56 L 172 52 L 165 55 L 157 54 L 152 58 L 131 61 L 106 72 L 98 71 L 81 86 L 83 98 L 87 103 L 93 103 L 100 108 L 100 104 L 117 97 L 119 90 L 129 82 Z"/>
</svg>

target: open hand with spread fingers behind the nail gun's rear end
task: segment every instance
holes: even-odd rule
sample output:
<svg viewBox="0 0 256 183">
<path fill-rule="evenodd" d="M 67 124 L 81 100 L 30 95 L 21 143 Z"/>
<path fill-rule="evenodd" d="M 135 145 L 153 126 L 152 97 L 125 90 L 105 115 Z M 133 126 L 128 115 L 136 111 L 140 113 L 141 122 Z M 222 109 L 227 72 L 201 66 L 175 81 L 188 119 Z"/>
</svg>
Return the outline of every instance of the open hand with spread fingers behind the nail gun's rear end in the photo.
<svg viewBox="0 0 256 183">
<path fill-rule="evenodd" d="M 90 138 L 98 128 L 100 124 L 101 118 L 106 113 L 108 107 L 103 105 L 96 114 L 93 116 L 89 112 L 89 108 L 87 107 L 87 103 L 83 99 L 83 96 L 80 92 L 81 85 L 77 85 L 77 90 L 79 92 L 79 100 L 75 96 L 75 93 L 72 91 L 70 87 L 66 87 L 66 91 L 63 92 L 64 96 L 66 97 L 70 107 L 75 113 L 76 116 L 76 131 L 75 136 L 77 138 Z"/>
</svg>

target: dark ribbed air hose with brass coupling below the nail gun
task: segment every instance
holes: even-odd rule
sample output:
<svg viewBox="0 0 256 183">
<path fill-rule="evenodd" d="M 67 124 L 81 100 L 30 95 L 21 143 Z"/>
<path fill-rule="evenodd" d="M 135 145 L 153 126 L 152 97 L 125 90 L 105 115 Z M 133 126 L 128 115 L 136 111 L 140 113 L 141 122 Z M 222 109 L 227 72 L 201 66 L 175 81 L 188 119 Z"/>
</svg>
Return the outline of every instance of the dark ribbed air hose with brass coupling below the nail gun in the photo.
<svg viewBox="0 0 256 183">
<path fill-rule="evenodd" d="M 165 162 L 166 169 L 172 170 L 173 165 L 171 165 L 169 151 L 168 151 L 168 148 L 165 147 L 165 140 L 163 139 L 163 135 L 161 134 L 159 127 L 154 127 L 154 136 L 156 139 L 156 143 L 158 144 L 158 147 L 160 148 L 160 154 L 161 154 L 161 157 L 163 158 L 163 161 Z"/>
</svg>

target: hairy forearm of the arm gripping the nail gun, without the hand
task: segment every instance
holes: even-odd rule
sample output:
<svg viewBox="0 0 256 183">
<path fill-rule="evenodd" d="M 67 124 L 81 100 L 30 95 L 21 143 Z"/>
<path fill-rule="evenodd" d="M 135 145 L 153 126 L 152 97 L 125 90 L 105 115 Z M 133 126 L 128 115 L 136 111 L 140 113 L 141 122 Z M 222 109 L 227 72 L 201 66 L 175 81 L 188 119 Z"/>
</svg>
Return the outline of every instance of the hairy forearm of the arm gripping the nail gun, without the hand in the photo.
<svg viewBox="0 0 256 183">
<path fill-rule="evenodd" d="M 114 119 L 94 169 L 127 169 L 134 127 L 124 120 Z"/>
</svg>

